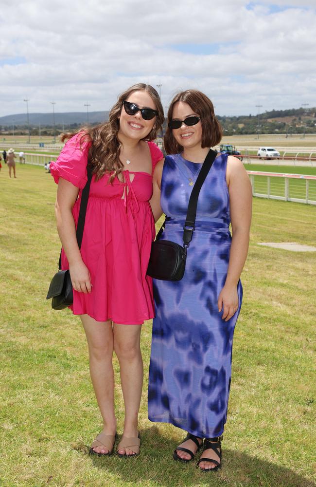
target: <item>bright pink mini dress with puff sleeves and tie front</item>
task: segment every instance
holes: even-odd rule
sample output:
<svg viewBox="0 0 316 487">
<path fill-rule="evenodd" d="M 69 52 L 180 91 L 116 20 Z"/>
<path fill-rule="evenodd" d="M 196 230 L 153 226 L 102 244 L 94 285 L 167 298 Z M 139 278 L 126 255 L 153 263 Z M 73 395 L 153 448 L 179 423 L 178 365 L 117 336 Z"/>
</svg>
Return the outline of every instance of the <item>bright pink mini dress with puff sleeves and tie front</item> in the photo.
<svg viewBox="0 0 316 487">
<path fill-rule="evenodd" d="M 80 136 L 72 137 L 50 165 L 55 183 L 59 177 L 79 187 L 72 215 L 77 225 L 81 193 L 87 183 L 89 143 L 80 148 Z M 153 142 L 148 142 L 152 168 L 163 158 Z M 87 314 L 97 321 L 133 325 L 154 317 L 152 279 L 146 275 L 150 249 L 155 239 L 155 222 L 149 200 L 152 175 L 123 171 L 124 182 L 110 175 L 91 180 L 81 256 L 88 267 L 92 291 L 73 290 L 74 315 Z M 69 269 L 62 250 L 62 269 Z"/>
</svg>

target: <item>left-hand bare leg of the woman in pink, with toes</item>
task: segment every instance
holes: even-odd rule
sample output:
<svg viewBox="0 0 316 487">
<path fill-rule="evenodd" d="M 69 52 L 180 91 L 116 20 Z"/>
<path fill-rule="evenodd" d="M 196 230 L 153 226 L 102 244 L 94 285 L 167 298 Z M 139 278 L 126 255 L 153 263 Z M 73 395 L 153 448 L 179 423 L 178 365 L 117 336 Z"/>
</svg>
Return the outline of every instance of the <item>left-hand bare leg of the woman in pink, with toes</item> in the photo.
<svg viewBox="0 0 316 487">
<path fill-rule="evenodd" d="M 113 357 L 113 329 L 108 321 L 96 321 L 88 315 L 80 316 L 89 347 L 90 375 L 94 392 L 103 417 L 103 431 L 105 434 L 116 433 L 116 418 L 114 412 L 114 371 Z M 97 453 L 108 453 L 102 446 L 95 447 Z"/>
</svg>

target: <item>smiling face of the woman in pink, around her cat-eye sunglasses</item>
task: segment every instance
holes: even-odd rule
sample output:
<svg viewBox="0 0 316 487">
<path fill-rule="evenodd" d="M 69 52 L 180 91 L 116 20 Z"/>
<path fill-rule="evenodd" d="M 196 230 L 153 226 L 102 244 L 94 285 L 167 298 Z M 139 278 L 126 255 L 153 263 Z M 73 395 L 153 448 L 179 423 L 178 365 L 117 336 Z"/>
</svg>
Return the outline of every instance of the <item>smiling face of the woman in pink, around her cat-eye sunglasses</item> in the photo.
<svg viewBox="0 0 316 487">
<path fill-rule="evenodd" d="M 145 91 L 135 91 L 129 94 L 126 101 L 130 103 L 135 103 L 140 108 L 151 108 L 157 110 L 153 99 L 150 94 Z M 135 115 L 128 115 L 124 106 L 122 107 L 121 114 L 119 116 L 120 128 L 118 135 L 120 139 L 127 137 L 134 140 L 144 139 L 155 125 L 156 117 L 152 120 L 144 120 L 140 112 L 135 113 Z"/>
</svg>

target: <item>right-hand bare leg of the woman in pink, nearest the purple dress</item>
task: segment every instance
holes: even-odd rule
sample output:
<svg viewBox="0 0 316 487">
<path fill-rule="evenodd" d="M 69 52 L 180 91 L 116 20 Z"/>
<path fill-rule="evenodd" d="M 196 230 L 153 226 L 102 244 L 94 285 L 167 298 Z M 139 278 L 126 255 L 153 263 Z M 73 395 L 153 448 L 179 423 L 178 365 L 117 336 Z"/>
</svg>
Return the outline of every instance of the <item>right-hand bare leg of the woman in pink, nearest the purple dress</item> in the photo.
<svg viewBox="0 0 316 487">
<path fill-rule="evenodd" d="M 124 397 L 125 420 L 123 435 L 138 436 L 138 413 L 143 380 L 143 364 L 140 352 L 141 325 L 113 323 L 114 350 L 120 362 L 121 384 Z M 132 455 L 128 448 L 119 453 Z"/>
</svg>

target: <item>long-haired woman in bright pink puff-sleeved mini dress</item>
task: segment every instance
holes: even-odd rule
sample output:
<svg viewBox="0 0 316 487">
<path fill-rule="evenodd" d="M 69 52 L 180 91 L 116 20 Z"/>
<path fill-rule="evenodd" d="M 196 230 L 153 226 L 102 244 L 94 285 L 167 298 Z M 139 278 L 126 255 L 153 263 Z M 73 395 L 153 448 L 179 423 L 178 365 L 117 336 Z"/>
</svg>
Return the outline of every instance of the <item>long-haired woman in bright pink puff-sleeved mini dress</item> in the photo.
<svg viewBox="0 0 316 487">
<path fill-rule="evenodd" d="M 163 157 L 152 140 L 162 123 L 157 91 L 134 85 L 119 96 L 108 122 L 65 135 L 63 140 L 71 138 L 50 166 L 58 183 L 55 212 L 62 269 L 70 269 L 73 286 L 70 308 L 86 332 L 90 375 L 104 423 L 90 449 L 98 455 L 111 454 L 116 439 L 113 351 L 120 363 L 125 408 L 118 454 L 140 452 L 140 330 L 144 320 L 154 317 L 152 281 L 146 276 L 155 238 L 149 200 L 152 172 Z M 79 250 L 75 230 L 87 164 L 93 177 Z"/>
</svg>

